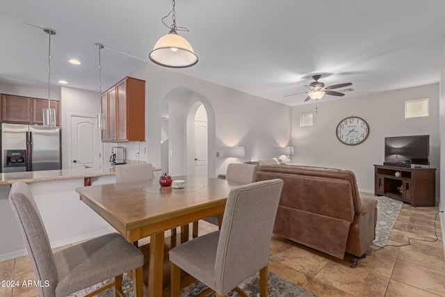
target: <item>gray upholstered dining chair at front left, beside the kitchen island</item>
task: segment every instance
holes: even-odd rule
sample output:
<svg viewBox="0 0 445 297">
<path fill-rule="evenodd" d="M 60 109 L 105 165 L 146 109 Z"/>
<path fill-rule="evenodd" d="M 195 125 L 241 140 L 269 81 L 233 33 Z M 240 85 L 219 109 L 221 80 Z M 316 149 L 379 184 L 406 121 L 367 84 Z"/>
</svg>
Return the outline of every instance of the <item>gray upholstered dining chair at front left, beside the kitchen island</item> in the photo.
<svg viewBox="0 0 445 297">
<path fill-rule="evenodd" d="M 15 182 L 9 193 L 13 213 L 22 230 L 26 250 L 31 258 L 42 297 L 66 296 L 104 280 L 114 282 L 97 289 L 96 293 L 115 287 L 122 293 L 122 274 L 132 271 L 134 295 L 143 296 L 143 254 L 118 233 L 106 234 L 52 252 L 48 235 L 31 190 L 24 182 Z"/>
</svg>

